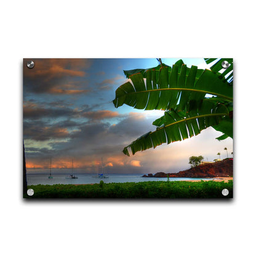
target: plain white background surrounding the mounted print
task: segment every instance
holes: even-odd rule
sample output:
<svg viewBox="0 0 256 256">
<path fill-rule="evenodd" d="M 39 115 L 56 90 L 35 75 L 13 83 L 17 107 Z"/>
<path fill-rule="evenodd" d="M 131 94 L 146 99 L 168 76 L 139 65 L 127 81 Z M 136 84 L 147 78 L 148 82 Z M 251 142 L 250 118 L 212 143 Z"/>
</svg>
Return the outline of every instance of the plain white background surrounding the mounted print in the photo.
<svg viewBox="0 0 256 256">
<path fill-rule="evenodd" d="M 252 4 L 2 2 L 1 255 L 254 255 Z M 233 57 L 234 199 L 23 200 L 22 58 L 33 57 Z"/>
</svg>

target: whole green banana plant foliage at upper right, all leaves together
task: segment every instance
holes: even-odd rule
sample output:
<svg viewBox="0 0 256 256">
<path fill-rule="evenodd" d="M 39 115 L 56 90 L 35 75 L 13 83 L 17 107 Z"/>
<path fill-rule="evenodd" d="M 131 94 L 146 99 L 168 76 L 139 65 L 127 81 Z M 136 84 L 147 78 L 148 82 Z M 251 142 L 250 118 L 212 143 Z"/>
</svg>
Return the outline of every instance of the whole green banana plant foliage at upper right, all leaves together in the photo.
<svg viewBox="0 0 256 256">
<path fill-rule="evenodd" d="M 216 59 L 205 60 L 209 64 Z M 231 65 L 220 74 L 224 60 Z M 233 59 L 220 59 L 211 70 L 188 68 L 182 60 L 172 67 L 161 59 L 158 61 L 158 66 L 148 70 L 124 71 L 132 83 L 128 81 L 116 89 L 113 100 L 116 108 L 126 104 L 137 109 L 165 110 L 164 115 L 153 122 L 156 130 L 137 138 L 123 153 L 129 156 L 128 148 L 135 154 L 162 143 L 184 140 L 210 126 L 223 132 L 218 140 L 233 138 Z"/>
</svg>

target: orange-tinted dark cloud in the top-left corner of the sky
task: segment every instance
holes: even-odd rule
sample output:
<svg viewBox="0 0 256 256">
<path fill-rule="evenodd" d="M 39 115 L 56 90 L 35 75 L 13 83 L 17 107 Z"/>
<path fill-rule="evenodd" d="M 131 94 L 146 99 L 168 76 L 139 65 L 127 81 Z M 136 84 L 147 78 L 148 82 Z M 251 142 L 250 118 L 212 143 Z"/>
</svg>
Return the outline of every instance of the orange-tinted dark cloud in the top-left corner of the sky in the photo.
<svg viewBox="0 0 256 256">
<path fill-rule="evenodd" d="M 24 92 L 33 92 L 35 94 L 78 94 L 87 93 L 86 88 L 76 90 L 78 78 L 86 76 L 86 69 L 90 68 L 92 60 L 90 59 L 34 59 L 34 68 L 27 68 L 24 59 L 23 62 L 23 90 Z M 66 84 L 70 83 L 70 90 L 66 90 Z M 87 82 L 80 81 L 80 86 L 87 85 Z"/>
</svg>

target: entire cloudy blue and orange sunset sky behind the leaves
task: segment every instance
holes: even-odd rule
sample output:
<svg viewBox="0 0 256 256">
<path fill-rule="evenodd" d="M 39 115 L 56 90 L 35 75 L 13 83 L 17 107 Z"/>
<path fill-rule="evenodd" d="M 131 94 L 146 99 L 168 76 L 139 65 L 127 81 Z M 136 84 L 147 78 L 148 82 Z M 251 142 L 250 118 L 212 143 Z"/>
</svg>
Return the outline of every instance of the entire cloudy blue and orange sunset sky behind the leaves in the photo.
<svg viewBox="0 0 256 256">
<path fill-rule="evenodd" d="M 164 111 L 114 108 L 115 90 L 127 81 L 123 70 L 151 68 L 156 58 L 41 58 L 34 68 L 23 61 L 23 139 L 28 172 L 52 168 L 95 173 L 102 162 L 107 173 L 148 174 L 190 168 L 190 156 L 206 161 L 231 156 L 233 140 L 212 127 L 182 142 L 166 143 L 128 157 L 125 146 L 146 132 Z M 172 66 L 179 58 L 162 58 Z M 209 68 L 203 58 L 182 58 L 190 67 Z"/>
</svg>

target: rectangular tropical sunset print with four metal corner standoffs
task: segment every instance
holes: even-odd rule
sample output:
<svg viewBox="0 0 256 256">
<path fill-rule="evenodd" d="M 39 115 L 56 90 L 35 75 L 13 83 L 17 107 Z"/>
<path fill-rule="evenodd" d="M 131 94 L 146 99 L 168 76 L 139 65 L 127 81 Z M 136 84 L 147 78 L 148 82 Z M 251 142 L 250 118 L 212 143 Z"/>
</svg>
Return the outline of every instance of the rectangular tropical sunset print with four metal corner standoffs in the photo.
<svg viewBox="0 0 256 256">
<path fill-rule="evenodd" d="M 23 60 L 24 198 L 233 198 L 232 58 Z"/>
</svg>

